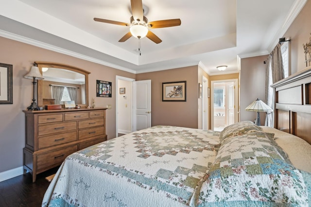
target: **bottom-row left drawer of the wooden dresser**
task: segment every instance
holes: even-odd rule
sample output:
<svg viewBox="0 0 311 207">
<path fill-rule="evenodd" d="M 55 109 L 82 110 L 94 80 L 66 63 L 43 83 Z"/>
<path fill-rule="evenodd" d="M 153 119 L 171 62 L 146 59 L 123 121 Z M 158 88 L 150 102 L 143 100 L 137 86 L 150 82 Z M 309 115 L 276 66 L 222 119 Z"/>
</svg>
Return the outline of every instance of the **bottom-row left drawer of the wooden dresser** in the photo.
<svg viewBox="0 0 311 207">
<path fill-rule="evenodd" d="M 56 151 L 52 151 L 49 153 L 37 155 L 37 170 L 55 165 L 61 164 L 64 159 L 70 154 L 76 152 L 78 150 L 78 146 L 70 146 L 67 148 L 62 148 Z"/>
</svg>

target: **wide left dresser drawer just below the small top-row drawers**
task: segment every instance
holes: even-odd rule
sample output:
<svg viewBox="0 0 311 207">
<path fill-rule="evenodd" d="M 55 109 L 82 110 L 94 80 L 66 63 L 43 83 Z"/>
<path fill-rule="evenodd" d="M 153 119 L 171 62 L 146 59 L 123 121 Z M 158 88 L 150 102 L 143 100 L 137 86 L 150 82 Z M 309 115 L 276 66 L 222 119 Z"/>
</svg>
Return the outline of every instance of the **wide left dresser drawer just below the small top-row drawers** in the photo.
<svg viewBox="0 0 311 207">
<path fill-rule="evenodd" d="M 38 127 L 38 135 L 42 136 L 47 134 L 62 133 L 76 129 L 77 129 L 77 122 L 42 125 Z"/>
</svg>

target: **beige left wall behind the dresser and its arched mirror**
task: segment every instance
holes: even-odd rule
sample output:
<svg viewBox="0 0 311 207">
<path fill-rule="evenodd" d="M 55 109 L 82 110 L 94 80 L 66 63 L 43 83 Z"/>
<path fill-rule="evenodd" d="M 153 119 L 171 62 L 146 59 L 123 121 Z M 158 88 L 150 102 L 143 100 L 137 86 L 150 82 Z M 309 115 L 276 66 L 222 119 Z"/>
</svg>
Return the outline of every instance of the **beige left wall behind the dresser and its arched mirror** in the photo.
<svg viewBox="0 0 311 207">
<path fill-rule="evenodd" d="M 35 61 L 69 64 L 89 71 L 89 103 L 95 98 L 96 107 L 112 105 L 106 111 L 108 139 L 116 136 L 116 75 L 135 79 L 135 74 L 100 64 L 74 58 L 47 49 L 27 45 L 0 37 L 0 63 L 13 65 L 13 104 L 0 104 L 0 172 L 22 166 L 22 151 L 25 146 L 25 110 L 32 102 L 32 80 L 23 78 Z M 113 83 L 111 98 L 96 97 L 96 80 Z"/>
</svg>

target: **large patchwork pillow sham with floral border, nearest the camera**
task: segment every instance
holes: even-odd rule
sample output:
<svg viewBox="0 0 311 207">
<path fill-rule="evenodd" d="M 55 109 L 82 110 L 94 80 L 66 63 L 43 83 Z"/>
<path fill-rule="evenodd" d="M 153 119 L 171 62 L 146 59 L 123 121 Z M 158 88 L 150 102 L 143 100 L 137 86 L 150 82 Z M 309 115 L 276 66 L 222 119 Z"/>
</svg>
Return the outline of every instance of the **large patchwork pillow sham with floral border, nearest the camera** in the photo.
<svg viewBox="0 0 311 207">
<path fill-rule="evenodd" d="M 309 186 L 273 142 L 262 131 L 225 139 L 202 184 L 198 206 L 307 207 Z"/>
</svg>

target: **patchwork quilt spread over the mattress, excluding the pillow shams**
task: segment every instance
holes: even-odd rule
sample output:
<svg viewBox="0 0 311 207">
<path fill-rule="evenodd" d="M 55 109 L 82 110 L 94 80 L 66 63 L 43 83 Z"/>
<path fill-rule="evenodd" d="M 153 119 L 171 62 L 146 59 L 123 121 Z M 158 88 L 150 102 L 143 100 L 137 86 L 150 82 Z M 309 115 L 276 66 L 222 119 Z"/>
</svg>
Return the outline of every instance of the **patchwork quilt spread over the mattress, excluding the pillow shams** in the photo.
<svg viewBox="0 0 311 207">
<path fill-rule="evenodd" d="M 172 126 L 90 146 L 64 160 L 42 206 L 194 206 L 216 146 L 218 132 Z"/>
</svg>

